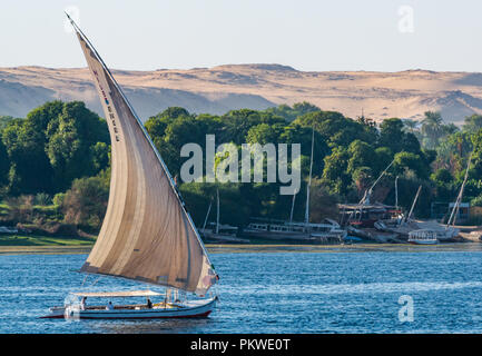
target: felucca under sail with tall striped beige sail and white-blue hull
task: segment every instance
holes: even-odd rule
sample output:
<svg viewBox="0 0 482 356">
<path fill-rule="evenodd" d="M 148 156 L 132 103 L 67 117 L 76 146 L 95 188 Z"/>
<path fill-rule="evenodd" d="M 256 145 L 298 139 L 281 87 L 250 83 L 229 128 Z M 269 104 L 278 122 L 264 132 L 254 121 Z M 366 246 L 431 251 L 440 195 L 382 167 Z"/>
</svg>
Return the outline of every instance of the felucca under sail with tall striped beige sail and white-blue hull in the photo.
<svg viewBox="0 0 482 356">
<path fill-rule="evenodd" d="M 50 318 L 203 317 L 219 279 L 176 184 L 112 73 L 70 19 L 100 96 L 111 140 L 110 195 L 97 241 L 80 271 L 164 286 L 153 290 L 73 293 L 82 303 L 50 308 Z M 178 291 L 203 299 L 180 300 Z M 92 298 L 148 298 L 145 304 L 90 305 Z M 87 306 L 86 298 L 89 298 Z M 150 300 L 153 298 L 153 301 Z M 155 298 L 160 300 L 156 301 Z M 68 299 L 68 298 L 67 298 Z"/>
</svg>

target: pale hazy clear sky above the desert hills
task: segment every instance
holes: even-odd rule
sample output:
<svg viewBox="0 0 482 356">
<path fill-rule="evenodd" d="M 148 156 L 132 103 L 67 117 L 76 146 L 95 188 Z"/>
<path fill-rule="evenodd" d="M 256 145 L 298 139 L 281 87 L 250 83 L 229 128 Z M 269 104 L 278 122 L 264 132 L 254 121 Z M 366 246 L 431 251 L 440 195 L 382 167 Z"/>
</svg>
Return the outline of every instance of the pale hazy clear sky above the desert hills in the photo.
<svg viewBox="0 0 482 356">
<path fill-rule="evenodd" d="M 1 0 L 0 67 L 85 67 L 67 8 L 117 69 L 482 71 L 478 0 Z"/>
</svg>

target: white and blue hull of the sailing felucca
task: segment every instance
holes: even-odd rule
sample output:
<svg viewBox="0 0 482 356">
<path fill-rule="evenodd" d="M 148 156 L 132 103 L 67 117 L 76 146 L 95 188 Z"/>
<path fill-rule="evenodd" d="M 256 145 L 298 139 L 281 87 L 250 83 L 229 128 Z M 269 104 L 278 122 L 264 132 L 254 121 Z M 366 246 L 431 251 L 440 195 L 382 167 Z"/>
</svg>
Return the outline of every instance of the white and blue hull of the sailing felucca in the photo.
<svg viewBox="0 0 482 356">
<path fill-rule="evenodd" d="M 215 308 L 217 297 L 188 301 L 183 305 L 170 305 L 169 307 L 153 307 L 127 309 L 116 307 L 114 310 L 101 308 L 87 308 L 79 310 L 71 307 L 53 307 L 50 314 L 41 318 L 72 318 L 72 319 L 164 319 L 164 318 L 201 318 L 207 317 Z"/>
</svg>

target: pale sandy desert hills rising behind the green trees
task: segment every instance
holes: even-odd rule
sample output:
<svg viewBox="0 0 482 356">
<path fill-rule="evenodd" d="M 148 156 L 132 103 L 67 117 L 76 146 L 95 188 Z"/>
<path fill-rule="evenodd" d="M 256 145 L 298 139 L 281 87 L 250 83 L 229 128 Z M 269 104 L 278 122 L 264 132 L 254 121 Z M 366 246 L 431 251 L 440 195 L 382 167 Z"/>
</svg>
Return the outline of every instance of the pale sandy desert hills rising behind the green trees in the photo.
<svg viewBox="0 0 482 356">
<path fill-rule="evenodd" d="M 439 110 L 450 122 L 482 113 L 482 73 L 313 72 L 281 65 L 227 65 L 189 70 L 114 70 L 139 116 L 147 119 L 169 106 L 191 112 L 223 113 L 229 109 L 264 109 L 309 101 L 324 110 L 375 120 L 421 119 Z M 24 116 L 51 100 L 83 100 L 100 113 L 86 68 L 0 68 L 0 115 Z"/>
</svg>

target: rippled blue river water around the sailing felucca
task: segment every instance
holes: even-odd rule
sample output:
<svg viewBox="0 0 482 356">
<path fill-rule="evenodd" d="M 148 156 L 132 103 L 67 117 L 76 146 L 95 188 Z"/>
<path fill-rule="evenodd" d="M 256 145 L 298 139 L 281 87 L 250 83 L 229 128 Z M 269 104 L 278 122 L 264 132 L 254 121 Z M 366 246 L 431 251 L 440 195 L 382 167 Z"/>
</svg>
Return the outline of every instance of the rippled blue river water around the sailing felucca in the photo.
<svg viewBox="0 0 482 356">
<path fill-rule="evenodd" d="M 49 320 L 86 255 L 0 255 L 0 333 L 481 333 L 482 251 L 222 253 L 206 319 Z M 87 285 L 95 281 L 89 276 Z M 94 289 L 144 288 L 101 278 Z M 414 301 L 401 323 L 399 298 Z"/>
</svg>

